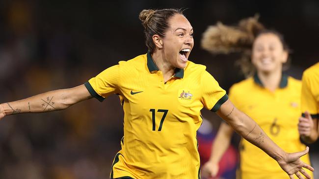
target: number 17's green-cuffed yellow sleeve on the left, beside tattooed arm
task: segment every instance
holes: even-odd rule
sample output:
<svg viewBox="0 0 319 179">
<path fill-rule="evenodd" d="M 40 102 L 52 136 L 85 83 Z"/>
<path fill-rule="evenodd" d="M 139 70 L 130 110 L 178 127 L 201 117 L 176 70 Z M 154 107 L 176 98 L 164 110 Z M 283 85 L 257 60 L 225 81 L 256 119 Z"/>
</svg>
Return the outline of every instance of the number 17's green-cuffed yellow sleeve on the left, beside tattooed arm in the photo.
<svg viewBox="0 0 319 179">
<path fill-rule="evenodd" d="M 84 83 L 91 95 L 102 102 L 108 95 L 118 93 L 119 65 L 102 71 L 96 77 Z"/>
</svg>

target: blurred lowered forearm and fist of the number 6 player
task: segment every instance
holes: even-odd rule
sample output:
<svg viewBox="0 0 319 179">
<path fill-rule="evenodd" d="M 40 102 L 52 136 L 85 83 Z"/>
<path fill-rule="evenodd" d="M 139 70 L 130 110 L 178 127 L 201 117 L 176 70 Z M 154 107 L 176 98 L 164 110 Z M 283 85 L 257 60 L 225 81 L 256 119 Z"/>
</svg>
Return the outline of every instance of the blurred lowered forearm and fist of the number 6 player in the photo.
<svg viewBox="0 0 319 179">
<path fill-rule="evenodd" d="M 219 161 L 226 152 L 233 134 L 233 129 L 226 123 L 221 123 L 217 136 L 213 142 L 211 157 L 202 169 L 202 175 L 205 178 L 215 177 L 219 171 Z"/>
</svg>

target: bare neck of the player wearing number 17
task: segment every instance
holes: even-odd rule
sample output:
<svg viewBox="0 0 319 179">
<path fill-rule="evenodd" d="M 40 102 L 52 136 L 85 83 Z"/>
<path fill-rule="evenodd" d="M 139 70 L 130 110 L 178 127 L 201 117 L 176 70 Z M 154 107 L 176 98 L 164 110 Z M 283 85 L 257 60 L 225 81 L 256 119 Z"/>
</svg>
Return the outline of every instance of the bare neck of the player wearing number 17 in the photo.
<svg viewBox="0 0 319 179">
<path fill-rule="evenodd" d="M 152 55 L 154 63 L 163 73 L 164 81 L 168 81 L 175 73 L 175 67 L 173 67 L 168 60 L 164 58 L 164 54 L 160 52 L 154 52 Z"/>
</svg>

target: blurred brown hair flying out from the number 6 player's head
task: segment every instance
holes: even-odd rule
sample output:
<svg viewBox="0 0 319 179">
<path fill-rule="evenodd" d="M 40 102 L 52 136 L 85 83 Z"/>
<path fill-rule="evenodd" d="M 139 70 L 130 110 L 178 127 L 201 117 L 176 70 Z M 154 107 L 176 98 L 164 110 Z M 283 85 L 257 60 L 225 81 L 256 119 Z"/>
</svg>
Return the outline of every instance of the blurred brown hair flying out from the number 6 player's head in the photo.
<svg viewBox="0 0 319 179">
<path fill-rule="evenodd" d="M 239 21 L 237 26 L 224 25 L 217 22 L 216 25 L 209 26 L 203 33 L 201 46 L 203 49 L 213 54 L 241 53 L 241 57 L 236 61 L 242 73 L 246 77 L 252 76 L 256 68 L 251 63 L 251 49 L 254 40 L 261 34 L 272 33 L 278 36 L 284 50 L 288 52 L 289 47 L 283 36 L 275 30 L 266 30 L 263 24 L 258 22 L 258 15 Z"/>
</svg>

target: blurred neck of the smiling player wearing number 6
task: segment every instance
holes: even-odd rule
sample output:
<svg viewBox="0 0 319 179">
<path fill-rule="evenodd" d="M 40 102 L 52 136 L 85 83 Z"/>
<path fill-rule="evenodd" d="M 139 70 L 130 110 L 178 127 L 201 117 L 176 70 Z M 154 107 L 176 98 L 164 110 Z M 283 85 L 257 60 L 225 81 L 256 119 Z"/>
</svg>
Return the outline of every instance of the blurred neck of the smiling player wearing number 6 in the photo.
<svg viewBox="0 0 319 179">
<path fill-rule="evenodd" d="M 260 81 L 263 83 L 264 87 L 270 91 L 275 91 L 279 88 L 280 81 L 282 78 L 282 71 L 276 70 L 273 72 L 262 72 L 257 71 Z"/>
</svg>

